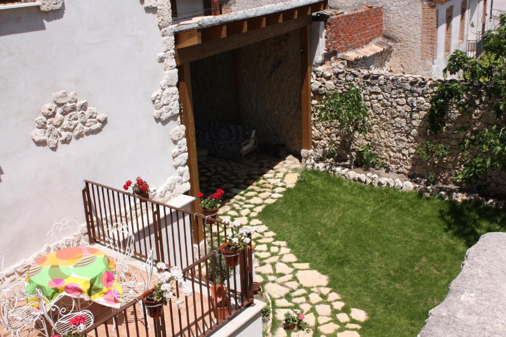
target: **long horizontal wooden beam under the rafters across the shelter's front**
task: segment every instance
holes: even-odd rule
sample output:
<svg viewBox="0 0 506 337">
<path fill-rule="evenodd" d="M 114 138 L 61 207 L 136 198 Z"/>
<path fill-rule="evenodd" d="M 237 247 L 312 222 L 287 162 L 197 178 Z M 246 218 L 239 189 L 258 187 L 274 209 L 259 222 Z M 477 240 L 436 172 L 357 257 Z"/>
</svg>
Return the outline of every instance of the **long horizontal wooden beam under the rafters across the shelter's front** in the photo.
<svg viewBox="0 0 506 337">
<path fill-rule="evenodd" d="M 267 26 L 263 29 L 255 29 L 242 34 L 229 36 L 224 39 L 212 40 L 188 46 L 186 48 L 177 49 L 175 55 L 176 64 L 182 65 L 184 63 L 197 61 L 209 56 L 225 53 L 248 44 L 256 43 L 276 35 L 299 29 L 309 25 L 311 21 L 312 18 L 308 15 L 295 20 L 283 22 L 283 24 Z"/>
</svg>

